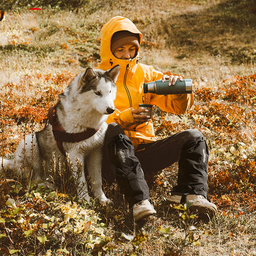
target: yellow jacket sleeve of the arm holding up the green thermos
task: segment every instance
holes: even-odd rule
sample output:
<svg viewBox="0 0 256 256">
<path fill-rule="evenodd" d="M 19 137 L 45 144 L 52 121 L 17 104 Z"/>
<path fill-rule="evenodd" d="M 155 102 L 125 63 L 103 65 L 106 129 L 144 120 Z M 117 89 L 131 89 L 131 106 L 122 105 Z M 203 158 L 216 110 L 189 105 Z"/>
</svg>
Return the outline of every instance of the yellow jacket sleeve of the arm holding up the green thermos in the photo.
<svg viewBox="0 0 256 256">
<path fill-rule="evenodd" d="M 145 82 L 160 80 L 163 73 L 154 70 L 153 66 L 146 71 Z M 184 114 L 190 110 L 194 103 L 193 94 L 150 94 L 150 104 L 157 105 L 162 111 L 173 114 Z"/>
</svg>

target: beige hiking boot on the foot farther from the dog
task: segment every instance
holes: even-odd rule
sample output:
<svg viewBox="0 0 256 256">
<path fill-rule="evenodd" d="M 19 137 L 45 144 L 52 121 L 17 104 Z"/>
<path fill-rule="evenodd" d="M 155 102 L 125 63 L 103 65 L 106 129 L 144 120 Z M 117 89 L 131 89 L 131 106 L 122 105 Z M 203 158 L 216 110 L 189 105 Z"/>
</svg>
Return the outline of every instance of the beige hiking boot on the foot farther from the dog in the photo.
<svg viewBox="0 0 256 256">
<path fill-rule="evenodd" d="M 209 202 L 204 196 L 199 194 L 188 194 L 186 202 L 192 201 L 190 212 L 198 214 L 199 217 L 213 217 L 217 213 L 217 207 L 212 202 Z"/>
</svg>

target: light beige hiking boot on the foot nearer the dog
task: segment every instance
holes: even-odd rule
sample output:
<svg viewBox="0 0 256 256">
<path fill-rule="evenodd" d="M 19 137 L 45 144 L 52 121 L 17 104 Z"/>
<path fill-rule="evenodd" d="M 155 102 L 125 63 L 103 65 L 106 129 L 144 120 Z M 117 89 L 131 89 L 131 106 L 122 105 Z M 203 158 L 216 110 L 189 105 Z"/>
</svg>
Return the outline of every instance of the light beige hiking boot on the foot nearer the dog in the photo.
<svg viewBox="0 0 256 256">
<path fill-rule="evenodd" d="M 134 220 L 140 220 L 141 218 L 148 217 L 150 215 L 156 214 L 156 210 L 154 210 L 154 207 L 148 201 L 148 199 L 145 199 L 143 201 L 137 202 L 137 204 L 134 204 L 132 207 L 133 214 L 134 214 Z"/>
</svg>

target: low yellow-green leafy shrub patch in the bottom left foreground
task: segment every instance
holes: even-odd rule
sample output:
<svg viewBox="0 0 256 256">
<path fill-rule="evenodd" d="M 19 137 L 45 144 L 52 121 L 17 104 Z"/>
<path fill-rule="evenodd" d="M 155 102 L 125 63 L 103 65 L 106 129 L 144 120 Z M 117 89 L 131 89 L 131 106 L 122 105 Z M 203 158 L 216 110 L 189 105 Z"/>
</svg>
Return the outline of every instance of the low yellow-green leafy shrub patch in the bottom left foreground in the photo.
<svg viewBox="0 0 256 256">
<path fill-rule="evenodd" d="M 0 185 L 1 255 L 84 255 L 105 239 L 105 225 L 89 204 L 35 184 L 28 190 L 15 180 Z"/>
</svg>

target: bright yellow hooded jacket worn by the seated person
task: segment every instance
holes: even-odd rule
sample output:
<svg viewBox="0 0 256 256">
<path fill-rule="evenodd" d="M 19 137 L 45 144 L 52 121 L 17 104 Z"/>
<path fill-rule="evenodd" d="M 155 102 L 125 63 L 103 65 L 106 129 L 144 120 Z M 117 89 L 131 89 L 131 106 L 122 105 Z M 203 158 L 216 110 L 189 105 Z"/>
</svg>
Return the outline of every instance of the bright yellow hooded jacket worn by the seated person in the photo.
<svg viewBox="0 0 256 256">
<path fill-rule="evenodd" d="M 154 70 L 153 66 L 138 63 L 139 49 L 137 55 L 131 60 L 121 60 L 114 57 L 110 50 L 111 37 L 114 33 L 121 30 L 127 30 L 140 35 L 142 34 L 134 23 L 128 18 L 117 16 L 106 23 L 101 31 L 100 57 L 102 62 L 98 68 L 108 70 L 115 65 L 120 65 L 121 70 L 116 81 L 117 95 L 114 102 L 116 110 L 107 119 L 107 122 L 116 122 L 124 129 L 126 135 L 130 138 L 134 147 L 145 142 L 153 142 L 154 128 L 153 122 L 144 122 L 143 124 L 134 124 L 131 110 L 137 109 L 138 104 L 147 103 L 157 105 L 162 111 L 174 114 L 183 114 L 193 105 L 193 95 L 156 95 L 143 93 L 143 82 L 156 81 L 162 78 L 162 73 Z"/>
</svg>

